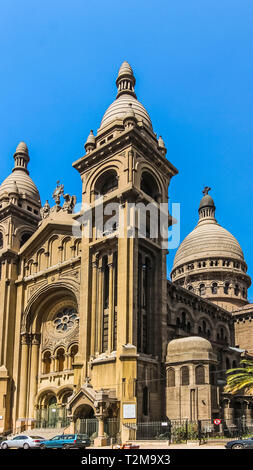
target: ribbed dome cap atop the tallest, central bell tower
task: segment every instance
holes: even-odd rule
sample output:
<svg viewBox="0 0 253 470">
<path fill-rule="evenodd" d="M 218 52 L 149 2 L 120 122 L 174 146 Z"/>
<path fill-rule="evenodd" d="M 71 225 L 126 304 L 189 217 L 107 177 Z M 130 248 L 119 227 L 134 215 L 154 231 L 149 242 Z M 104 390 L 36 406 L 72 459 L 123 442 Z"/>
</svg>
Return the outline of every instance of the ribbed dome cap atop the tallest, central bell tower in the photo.
<svg viewBox="0 0 253 470">
<path fill-rule="evenodd" d="M 144 123 L 152 129 L 152 122 L 147 110 L 136 98 L 128 94 L 121 95 L 109 106 L 101 121 L 100 129 L 117 118 L 123 120 L 126 113 L 129 113 L 129 104 L 132 105 L 132 110 L 134 111 L 137 121 L 144 121 Z"/>
</svg>

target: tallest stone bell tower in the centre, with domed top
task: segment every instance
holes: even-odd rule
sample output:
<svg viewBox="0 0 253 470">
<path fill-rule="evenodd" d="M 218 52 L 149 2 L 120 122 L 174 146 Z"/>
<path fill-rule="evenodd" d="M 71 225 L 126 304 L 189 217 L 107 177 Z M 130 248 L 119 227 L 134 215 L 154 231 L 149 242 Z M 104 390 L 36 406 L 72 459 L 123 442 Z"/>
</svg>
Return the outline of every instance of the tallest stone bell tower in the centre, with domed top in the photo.
<svg viewBox="0 0 253 470">
<path fill-rule="evenodd" d="M 136 98 L 127 62 L 116 85 L 117 97 L 97 135 L 90 132 L 86 154 L 73 166 L 83 188 L 77 219 L 90 211 L 91 221 L 89 236 L 86 223 L 82 238 L 80 331 L 86 333 L 80 337 L 80 384 L 88 375 L 93 388 L 110 389 L 124 422 L 165 413 L 160 387 L 167 345 L 167 250 L 159 207 L 168 204 L 177 170 Z M 166 214 L 169 218 L 168 209 Z"/>
</svg>

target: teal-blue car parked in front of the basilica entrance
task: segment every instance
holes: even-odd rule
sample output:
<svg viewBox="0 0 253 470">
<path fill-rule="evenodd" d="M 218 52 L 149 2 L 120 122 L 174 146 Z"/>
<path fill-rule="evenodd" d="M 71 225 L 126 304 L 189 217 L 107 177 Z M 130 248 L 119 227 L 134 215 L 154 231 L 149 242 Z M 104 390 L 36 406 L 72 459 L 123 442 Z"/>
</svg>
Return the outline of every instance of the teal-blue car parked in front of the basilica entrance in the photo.
<svg viewBox="0 0 253 470">
<path fill-rule="evenodd" d="M 61 434 L 52 439 L 44 440 L 41 449 L 85 449 L 90 446 L 90 438 L 87 434 Z"/>
</svg>

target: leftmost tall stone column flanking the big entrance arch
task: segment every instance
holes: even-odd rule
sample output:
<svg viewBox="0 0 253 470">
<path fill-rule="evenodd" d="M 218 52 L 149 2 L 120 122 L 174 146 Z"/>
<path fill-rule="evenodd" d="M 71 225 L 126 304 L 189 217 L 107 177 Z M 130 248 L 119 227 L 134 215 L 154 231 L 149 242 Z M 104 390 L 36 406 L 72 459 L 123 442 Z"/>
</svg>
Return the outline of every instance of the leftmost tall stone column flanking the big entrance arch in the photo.
<svg viewBox="0 0 253 470">
<path fill-rule="evenodd" d="M 28 379 L 28 354 L 30 336 L 27 333 L 21 335 L 21 368 L 20 368 L 20 394 L 19 394 L 19 420 L 26 418 L 27 379 Z"/>
</svg>

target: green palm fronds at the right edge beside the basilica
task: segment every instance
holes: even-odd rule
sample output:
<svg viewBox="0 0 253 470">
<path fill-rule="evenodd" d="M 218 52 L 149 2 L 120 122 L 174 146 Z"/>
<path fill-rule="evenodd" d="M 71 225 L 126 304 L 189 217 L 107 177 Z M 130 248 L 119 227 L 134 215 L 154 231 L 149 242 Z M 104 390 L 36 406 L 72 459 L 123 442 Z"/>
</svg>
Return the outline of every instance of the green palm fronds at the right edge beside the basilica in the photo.
<svg viewBox="0 0 253 470">
<path fill-rule="evenodd" d="M 229 369 L 227 373 L 227 385 L 225 392 L 236 393 L 244 390 L 248 395 L 253 395 L 253 360 L 242 359 L 243 367 Z"/>
</svg>

